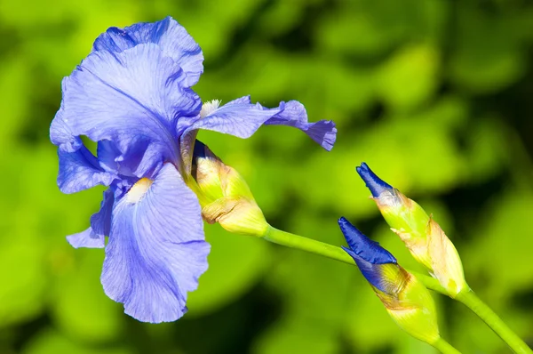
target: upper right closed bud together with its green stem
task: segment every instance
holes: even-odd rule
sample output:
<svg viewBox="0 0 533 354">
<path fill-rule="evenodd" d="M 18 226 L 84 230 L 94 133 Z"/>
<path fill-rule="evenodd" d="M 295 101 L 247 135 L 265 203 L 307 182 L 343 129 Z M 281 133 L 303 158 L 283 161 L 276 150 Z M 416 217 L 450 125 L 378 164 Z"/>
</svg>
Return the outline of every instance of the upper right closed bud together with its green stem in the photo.
<svg viewBox="0 0 533 354">
<path fill-rule="evenodd" d="M 516 353 L 533 353 L 529 346 L 505 325 L 494 311 L 473 293 L 465 281 L 463 265 L 456 247 L 439 224 L 414 200 L 405 197 L 381 180 L 366 164 L 357 173 L 370 189 L 386 222 L 391 226 L 413 257 L 431 272 L 445 289 L 443 294 L 463 302 Z"/>
</svg>

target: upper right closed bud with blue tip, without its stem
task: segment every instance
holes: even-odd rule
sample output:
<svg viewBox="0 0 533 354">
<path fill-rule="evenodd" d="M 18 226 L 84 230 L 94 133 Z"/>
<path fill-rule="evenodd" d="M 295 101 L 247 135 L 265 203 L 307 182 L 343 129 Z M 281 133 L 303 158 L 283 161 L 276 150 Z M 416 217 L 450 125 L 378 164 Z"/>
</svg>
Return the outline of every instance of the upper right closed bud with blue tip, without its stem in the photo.
<svg viewBox="0 0 533 354">
<path fill-rule="evenodd" d="M 459 254 L 439 224 L 415 201 L 382 181 L 368 165 L 363 163 L 357 167 L 357 173 L 370 189 L 379 211 L 394 233 L 449 295 L 455 297 L 467 288 Z"/>
</svg>

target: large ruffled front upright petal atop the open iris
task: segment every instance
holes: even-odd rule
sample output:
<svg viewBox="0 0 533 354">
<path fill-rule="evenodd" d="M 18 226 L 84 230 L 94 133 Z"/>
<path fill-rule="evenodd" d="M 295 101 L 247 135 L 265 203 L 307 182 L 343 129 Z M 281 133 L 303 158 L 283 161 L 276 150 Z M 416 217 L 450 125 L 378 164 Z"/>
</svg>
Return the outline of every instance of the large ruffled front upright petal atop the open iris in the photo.
<svg viewBox="0 0 533 354">
<path fill-rule="evenodd" d="M 113 141 L 132 173 L 155 173 L 164 161 L 177 162 L 179 118 L 195 116 L 201 107 L 184 86 L 186 79 L 156 44 L 92 52 L 63 80 L 62 109 L 52 122 L 51 139 L 60 147 L 79 135 Z M 65 132 L 71 133 L 69 139 Z"/>
</svg>

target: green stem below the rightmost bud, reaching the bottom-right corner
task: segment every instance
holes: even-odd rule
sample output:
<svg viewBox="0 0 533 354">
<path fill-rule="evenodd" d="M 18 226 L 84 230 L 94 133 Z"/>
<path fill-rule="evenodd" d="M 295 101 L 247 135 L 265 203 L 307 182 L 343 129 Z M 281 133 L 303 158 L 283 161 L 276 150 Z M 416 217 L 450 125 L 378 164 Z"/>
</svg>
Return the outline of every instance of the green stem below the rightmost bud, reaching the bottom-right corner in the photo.
<svg viewBox="0 0 533 354">
<path fill-rule="evenodd" d="M 533 353 L 529 346 L 514 334 L 511 328 L 505 325 L 504 321 L 493 310 L 490 310 L 489 306 L 482 302 L 471 289 L 457 294 L 456 300 L 463 302 L 467 308 L 473 310 L 515 353 Z"/>
</svg>

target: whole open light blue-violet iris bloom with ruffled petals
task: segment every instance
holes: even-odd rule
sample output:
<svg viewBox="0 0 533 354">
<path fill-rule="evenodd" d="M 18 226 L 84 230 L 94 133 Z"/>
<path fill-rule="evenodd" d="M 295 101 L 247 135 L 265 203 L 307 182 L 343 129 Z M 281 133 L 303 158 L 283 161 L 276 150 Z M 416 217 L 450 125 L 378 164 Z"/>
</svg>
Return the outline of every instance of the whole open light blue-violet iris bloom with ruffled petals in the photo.
<svg viewBox="0 0 533 354">
<path fill-rule="evenodd" d="M 202 72 L 199 45 L 170 17 L 109 28 L 64 78 L 50 128 L 60 190 L 108 186 L 91 227 L 68 242 L 105 247 L 104 291 L 141 321 L 183 316 L 187 292 L 207 270 L 210 245 L 187 187 L 199 129 L 248 138 L 261 125 L 290 125 L 328 150 L 337 133 L 330 121 L 307 123 L 298 101 L 274 109 L 250 97 L 203 104 L 191 89 Z M 97 142 L 96 157 L 81 136 Z"/>
</svg>

